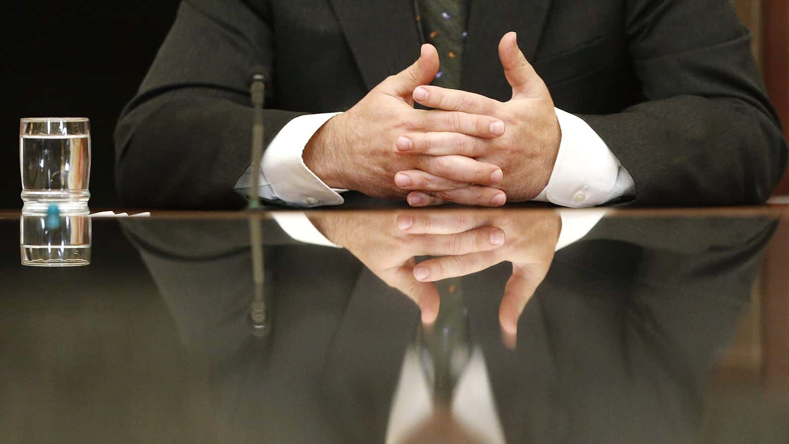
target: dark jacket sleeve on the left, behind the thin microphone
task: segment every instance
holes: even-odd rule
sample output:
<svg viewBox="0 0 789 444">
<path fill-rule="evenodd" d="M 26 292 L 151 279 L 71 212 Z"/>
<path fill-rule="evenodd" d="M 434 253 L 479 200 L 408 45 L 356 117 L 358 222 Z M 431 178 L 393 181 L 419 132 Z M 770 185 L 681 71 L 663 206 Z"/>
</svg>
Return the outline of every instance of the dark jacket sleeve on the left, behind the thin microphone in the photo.
<svg viewBox="0 0 789 444">
<path fill-rule="evenodd" d="M 115 134 L 125 205 L 232 208 L 249 167 L 252 66 L 273 73 L 267 2 L 189 0 Z M 267 88 L 267 94 L 272 88 Z M 275 97 L 268 96 L 267 103 Z M 264 144 L 304 113 L 264 110 Z"/>
</svg>

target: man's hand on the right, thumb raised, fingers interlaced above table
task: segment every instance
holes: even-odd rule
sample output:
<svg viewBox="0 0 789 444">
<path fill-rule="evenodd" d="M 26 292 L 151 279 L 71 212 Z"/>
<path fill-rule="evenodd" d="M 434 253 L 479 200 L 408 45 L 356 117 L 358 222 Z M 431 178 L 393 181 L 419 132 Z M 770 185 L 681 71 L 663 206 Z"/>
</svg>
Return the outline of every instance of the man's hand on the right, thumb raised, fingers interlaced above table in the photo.
<svg viewBox="0 0 789 444">
<path fill-rule="evenodd" d="M 450 133 L 409 133 L 397 141 L 397 149 L 413 155 L 460 155 L 495 164 L 503 171 L 503 181 L 495 186 L 507 194 L 507 201 L 536 198 L 551 178 L 559 142 L 559 120 L 548 88 L 518 48 L 515 32 L 499 42 L 499 58 L 504 75 L 512 87 L 512 98 L 499 102 L 473 92 L 419 86 L 413 99 L 426 107 L 490 115 L 504 121 L 501 137 L 484 139 Z M 420 170 L 400 171 L 394 182 L 411 190 L 413 206 L 438 205 L 460 201 L 462 190 L 432 189 L 432 175 Z M 407 183 L 407 185 L 406 185 Z"/>
</svg>

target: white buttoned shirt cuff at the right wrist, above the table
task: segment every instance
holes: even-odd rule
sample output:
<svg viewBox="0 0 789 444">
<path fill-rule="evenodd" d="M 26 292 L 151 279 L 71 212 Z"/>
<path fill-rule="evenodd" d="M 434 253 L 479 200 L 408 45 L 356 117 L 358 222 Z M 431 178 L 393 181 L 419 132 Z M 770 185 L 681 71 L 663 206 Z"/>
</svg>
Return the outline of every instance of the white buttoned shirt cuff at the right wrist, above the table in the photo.
<svg viewBox="0 0 789 444">
<path fill-rule="evenodd" d="M 608 145 L 576 115 L 555 108 L 562 141 L 548 185 L 535 198 L 573 208 L 635 196 L 635 183 Z"/>
</svg>

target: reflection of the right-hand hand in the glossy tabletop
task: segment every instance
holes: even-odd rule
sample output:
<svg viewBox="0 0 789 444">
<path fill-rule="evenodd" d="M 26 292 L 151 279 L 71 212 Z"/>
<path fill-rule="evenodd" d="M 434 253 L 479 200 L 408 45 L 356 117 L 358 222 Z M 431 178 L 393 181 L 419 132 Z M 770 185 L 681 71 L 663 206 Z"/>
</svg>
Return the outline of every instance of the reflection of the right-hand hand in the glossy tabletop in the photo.
<svg viewBox="0 0 789 444">
<path fill-rule="evenodd" d="M 397 217 L 397 224 L 403 232 L 412 235 L 468 233 L 479 230 L 479 227 L 503 230 L 506 241 L 499 248 L 428 259 L 413 268 L 413 277 L 422 283 L 433 282 L 476 273 L 499 262 L 512 262 L 512 276 L 507 280 L 499 307 L 499 322 L 506 341 L 514 344 L 518 318 L 551 266 L 562 229 L 559 214 L 405 213 Z"/>
</svg>

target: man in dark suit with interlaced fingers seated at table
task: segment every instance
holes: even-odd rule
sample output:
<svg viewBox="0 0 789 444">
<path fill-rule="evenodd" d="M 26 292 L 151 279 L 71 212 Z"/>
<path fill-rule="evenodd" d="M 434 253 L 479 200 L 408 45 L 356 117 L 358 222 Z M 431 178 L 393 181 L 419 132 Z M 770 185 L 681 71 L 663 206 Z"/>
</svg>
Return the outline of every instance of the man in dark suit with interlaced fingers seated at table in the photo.
<svg viewBox="0 0 789 444">
<path fill-rule="evenodd" d="M 308 207 L 753 203 L 786 163 L 728 0 L 187 0 L 116 145 L 123 201 L 179 207 L 240 206 L 253 174 Z"/>
</svg>

